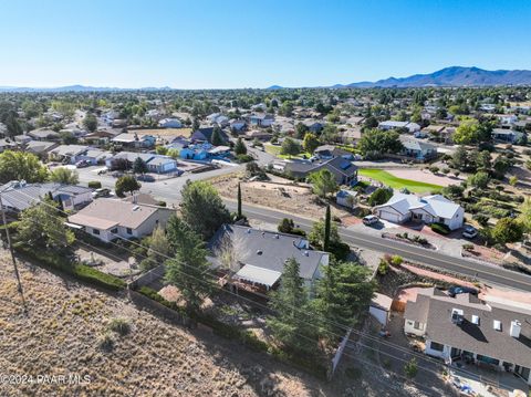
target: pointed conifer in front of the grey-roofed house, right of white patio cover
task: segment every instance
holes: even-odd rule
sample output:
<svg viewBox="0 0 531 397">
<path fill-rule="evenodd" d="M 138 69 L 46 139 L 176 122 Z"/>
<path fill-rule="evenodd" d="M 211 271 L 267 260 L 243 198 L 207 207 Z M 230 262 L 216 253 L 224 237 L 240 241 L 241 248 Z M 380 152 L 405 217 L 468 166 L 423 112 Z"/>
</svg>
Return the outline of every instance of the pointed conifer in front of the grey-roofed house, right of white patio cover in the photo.
<svg viewBox="0 0 531 397">
<path fill-rule="evenodd" d="M 269 306 L 273 315 L 267 324 L 279 342 L 295 352 L 316 348 L 316 328 L 308 324 L 313 310 L 295 259 L 285 262 L 280 286 L 270 294 Z"/>
</svg>

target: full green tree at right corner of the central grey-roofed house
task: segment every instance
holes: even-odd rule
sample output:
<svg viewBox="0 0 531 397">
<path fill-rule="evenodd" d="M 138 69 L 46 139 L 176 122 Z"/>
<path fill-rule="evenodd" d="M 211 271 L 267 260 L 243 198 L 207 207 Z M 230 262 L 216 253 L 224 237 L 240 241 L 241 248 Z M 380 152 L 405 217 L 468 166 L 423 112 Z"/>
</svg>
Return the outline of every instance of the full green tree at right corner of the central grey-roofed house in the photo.
<svg viewBox="0 0 531 397">
<path fill-rule="evenodd" d="M 375 291 L 376 281 L 366 267 L 334 261 L 324 267 L 313 301 L 324 335 L 334 339 L 334 335 L 344 333 L 344 327 L 354 326 Z"/>
</svg>

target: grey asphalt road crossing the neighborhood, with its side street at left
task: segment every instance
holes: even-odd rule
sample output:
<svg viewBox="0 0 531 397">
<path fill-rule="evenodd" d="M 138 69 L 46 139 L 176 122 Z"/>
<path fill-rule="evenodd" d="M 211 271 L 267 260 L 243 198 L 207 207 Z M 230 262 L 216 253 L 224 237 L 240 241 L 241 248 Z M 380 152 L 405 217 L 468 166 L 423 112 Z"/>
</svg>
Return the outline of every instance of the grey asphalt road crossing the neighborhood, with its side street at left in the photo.
<svg viewBox="0 0 531 397">
<path fill-rule="evenodd" d="M 93 169 L 80 169 L 80 181 L 86 184 L 88 180 L 101 180 L 104 187 L 114 188 L 115 178 L 110 175 L 97 176 Z M 168 205 L 178 205 L 180 201 L 180 190 L 186 180 L 207 179 L 214 176 L 233 173 L 243 169 L 243 166 L 223 167 L 207 173 L 190 174 L 178 178 L 157 180 L 155 182 L 143 182 L 140 191 L 148 192 L 156 198 L 165 200 Z M 225 200 L 227 207 L 235 211 L 236 202 Z M 248 206 L 243 203 L 243 212 L 251 219 L 277 224 L 282 218 L 289 217 L 304 230 L 310 230 L 313 221 L 275 211 L 269 208 Z M 450 257 L 437 251 L 425 250 L 423 248 L 400 243 L 392 240 L 384 240 L 363 232 L 353 231 L 340 227 L 340 236 L 346 243 L 389 254 L 398 254 L 413 262 L 423 263 L 435 269 L 468 275 L 482 281 L 488 285 L 500 285 L 523 291 L 531 291 L 531 276 L 523 273 L 510 271 L 489 263 L 467 260 L 459 257 Z"/>
</svg>

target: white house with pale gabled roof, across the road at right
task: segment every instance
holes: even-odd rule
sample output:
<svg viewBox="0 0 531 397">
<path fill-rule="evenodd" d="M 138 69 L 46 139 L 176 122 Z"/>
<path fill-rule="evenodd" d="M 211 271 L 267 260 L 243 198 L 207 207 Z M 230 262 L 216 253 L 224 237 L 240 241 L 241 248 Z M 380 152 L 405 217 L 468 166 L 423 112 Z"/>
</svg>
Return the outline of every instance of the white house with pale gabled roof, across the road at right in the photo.
<svg viewBox="0 0 531 397">
<path fill-rule="evenodd" d="M 446 224 L 450 230 L 461 228 L 465 221 L 462 207 L 440 195 L 418 197 L 395 194 L 386 203 L 376 206 L 375 212 L 381 219 L 395 223 L 437 222 Z"/>
</svg>

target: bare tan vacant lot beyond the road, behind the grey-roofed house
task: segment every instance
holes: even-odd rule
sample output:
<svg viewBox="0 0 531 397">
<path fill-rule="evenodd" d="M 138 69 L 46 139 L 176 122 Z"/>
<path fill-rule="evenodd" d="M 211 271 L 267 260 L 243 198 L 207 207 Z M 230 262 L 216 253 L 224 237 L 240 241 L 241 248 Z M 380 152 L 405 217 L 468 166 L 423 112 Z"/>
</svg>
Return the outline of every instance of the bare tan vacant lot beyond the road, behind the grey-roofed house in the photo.
<svg viewBox="0 0 531 397">
<path fill-rule="evenodd" d="M 210 181 L 222 197 L 236 200 L 239 180 L 238 175 L 230 174 L 216 177 Z M 317 202 L 311 187 L 306 184 L 294 185 L 289 179 L 272 177 L 270 181 L 242 181 L 241 198 L 243 202 L 296 213 L 301 217 L 312 219 L 324 217 L 325 206 Z M 334 207 L 332 216 L 343 218 L 350 216 L 350 212 Z"/>
</svg>

